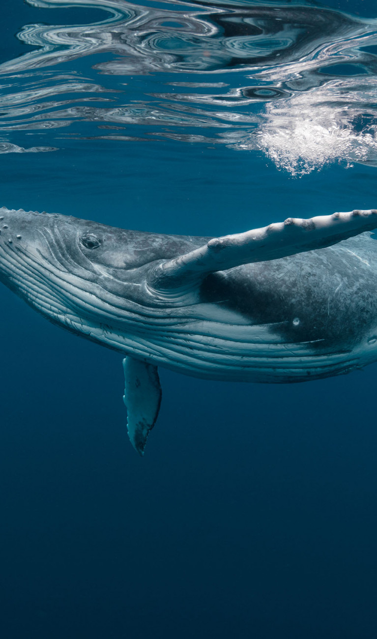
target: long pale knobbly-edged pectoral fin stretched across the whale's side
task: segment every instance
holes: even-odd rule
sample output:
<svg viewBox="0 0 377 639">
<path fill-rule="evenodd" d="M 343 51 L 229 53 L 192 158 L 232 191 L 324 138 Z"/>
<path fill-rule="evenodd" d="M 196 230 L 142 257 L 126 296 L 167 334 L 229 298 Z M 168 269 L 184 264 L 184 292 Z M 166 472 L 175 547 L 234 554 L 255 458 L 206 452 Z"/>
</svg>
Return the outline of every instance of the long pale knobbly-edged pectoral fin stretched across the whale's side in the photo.
<svg viewBox="0 0 377 639">
<path fill-rule="evenodd" d="M 160 290 L 200 284 L 214 271 L 323 249 L 376 227 L 375 209 L 321 215 L 308 220 L 289 217 L 285 222 L 253 231 L 213 238 L 199 249 L 169 259 L 151 273 L 150 284 Z"/>
</svg>

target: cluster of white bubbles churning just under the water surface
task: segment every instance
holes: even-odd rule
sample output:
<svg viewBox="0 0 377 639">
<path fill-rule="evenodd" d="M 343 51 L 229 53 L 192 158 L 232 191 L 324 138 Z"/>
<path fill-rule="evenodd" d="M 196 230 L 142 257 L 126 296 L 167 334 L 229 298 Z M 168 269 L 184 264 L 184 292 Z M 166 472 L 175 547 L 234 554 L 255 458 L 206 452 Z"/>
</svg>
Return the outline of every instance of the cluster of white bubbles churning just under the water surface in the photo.
<svg viewBox="0 0 377 639">
<path fill-rule="evenodd" d="M 331 83 L 316 91 L 296 95 L 284 104 L 266 107 L 266 122 L 257 144 L 281 169 L 294 176 L 311 173 L 330 162 L 373 164 L 377 161 L 376 114 L 369 100 L 376 90 L 373 79 L 359 88 L 354 108 L 348 104 L 345 82 Z M 334 100 L 336 98 L 336 102 Z M 334 104 L 335 103 L 335 104 Z M 362 114 L 370 117 L 357 127 Z"/>
</svg>

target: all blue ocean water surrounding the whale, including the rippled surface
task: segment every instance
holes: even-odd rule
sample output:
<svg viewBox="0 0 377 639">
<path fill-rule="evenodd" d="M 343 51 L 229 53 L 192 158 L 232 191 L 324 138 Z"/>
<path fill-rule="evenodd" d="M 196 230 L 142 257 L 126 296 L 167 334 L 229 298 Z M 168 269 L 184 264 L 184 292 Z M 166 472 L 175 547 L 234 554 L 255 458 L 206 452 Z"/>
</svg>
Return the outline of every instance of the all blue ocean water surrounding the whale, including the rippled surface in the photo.
<svg viewBox="0 0 377 639">
<path fill-rule="evenodd" d="M 377 204 L 377 8 L 13 0 L 2 206 L 188 235 Z M 1 289 L 4 639 L 374 639 L 377 366 L 299 385 L 160 369 Z"/>
</svg>

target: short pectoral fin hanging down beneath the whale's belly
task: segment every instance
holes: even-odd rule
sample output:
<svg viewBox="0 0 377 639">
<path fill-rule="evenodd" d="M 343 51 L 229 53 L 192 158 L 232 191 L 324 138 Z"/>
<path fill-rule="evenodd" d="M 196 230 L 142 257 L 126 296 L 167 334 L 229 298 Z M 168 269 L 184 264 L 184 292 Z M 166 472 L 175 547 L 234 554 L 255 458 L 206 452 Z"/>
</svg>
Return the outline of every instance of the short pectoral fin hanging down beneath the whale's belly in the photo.
<svg viewBox="0 0 377 639">
<path fill-rule="evenodd" d="M 123 360 L 127 429 L 130 442 L 144 455 L 148 435 L 155 425 L 161 403 L 161 385 L 157 366 L 133 357 Z"/>
</svg>

